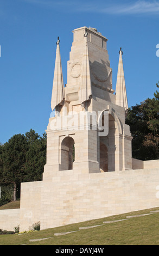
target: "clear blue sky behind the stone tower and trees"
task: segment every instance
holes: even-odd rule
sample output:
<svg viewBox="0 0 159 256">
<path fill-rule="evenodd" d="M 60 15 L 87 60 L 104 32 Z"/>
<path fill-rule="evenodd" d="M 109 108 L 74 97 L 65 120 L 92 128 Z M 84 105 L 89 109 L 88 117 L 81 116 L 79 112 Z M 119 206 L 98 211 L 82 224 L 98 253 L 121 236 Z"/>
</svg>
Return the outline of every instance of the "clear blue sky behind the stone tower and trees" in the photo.
<svg viewBox="0 0 159 256">
<path fill-rule="evenodd" d="M 129 107 L 154 96 L 159 1 L 0 0 L 1 143 L 30 129 L 39 135 L 47 129 L 57 37 L 67 83 L 72 31 L 83 26 L 109 39 L 113 89 L 122 46 Z"/>
</svg>

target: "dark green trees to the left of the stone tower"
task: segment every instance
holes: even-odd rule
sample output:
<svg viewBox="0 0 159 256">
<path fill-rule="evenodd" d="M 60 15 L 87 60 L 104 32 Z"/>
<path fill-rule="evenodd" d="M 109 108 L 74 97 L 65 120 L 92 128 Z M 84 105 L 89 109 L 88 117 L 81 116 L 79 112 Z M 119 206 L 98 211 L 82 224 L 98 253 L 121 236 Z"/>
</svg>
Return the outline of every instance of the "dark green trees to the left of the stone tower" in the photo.
<svg viewBox="0 0 159 256">
<path fill-rule="evenodd" d="M 0 186 L 8 186 L 10 191 L 12 185 L 12 198 L 16 200 L 21 182 L 42 180 L 45 163 L 46 133 L 41 137 L 30 129 L 26 135 L 12 136 L 0 144 Z"/>
</svg>

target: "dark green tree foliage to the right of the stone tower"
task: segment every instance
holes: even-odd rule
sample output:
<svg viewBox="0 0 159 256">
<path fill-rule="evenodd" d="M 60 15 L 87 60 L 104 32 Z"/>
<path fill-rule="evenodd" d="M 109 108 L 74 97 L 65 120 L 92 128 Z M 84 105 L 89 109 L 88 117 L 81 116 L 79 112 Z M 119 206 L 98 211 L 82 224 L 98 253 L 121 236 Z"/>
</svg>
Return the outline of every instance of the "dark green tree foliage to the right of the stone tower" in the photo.
<svg viewBox="0 0 159 256">
<path fill-rule="evenodd" d="M 159 83 L 159 82 L 158 82 Z M 156 84 L 157 88 L 159 85 Z M 159 92 L 128 111 L 126 124 L 130 125 L 132 157 L 139 160 L 159 159 Z"/>
</svg>

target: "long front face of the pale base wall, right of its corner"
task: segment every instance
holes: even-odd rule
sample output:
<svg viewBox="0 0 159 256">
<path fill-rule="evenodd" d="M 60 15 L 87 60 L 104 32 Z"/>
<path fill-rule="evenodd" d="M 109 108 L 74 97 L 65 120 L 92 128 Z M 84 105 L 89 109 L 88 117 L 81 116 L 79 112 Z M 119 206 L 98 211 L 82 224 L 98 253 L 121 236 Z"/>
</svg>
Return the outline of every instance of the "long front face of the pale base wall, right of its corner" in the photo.
<svg viewBox="0 0 159 256">
<path fill-rule="evenodd" d="M 159 169 L 82 174 L 58 172 L 43 182 L 41 228 L 58 227 L 159 205 Z"/>
</svg>

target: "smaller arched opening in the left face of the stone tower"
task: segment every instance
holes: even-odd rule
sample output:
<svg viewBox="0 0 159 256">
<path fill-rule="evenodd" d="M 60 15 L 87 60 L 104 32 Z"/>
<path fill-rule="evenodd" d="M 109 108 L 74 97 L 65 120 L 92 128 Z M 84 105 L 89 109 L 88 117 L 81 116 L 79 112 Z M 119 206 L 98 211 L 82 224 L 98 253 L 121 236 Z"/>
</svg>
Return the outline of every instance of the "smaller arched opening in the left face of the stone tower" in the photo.
<svg viewBox="0 0 159 256">
<path fill-rule="evenodd" d="M 74 139 L 66 137 L 61 143 L 61 170 L 73 169 Z"/>
</svg>

